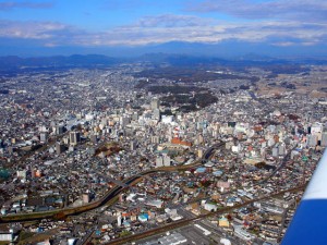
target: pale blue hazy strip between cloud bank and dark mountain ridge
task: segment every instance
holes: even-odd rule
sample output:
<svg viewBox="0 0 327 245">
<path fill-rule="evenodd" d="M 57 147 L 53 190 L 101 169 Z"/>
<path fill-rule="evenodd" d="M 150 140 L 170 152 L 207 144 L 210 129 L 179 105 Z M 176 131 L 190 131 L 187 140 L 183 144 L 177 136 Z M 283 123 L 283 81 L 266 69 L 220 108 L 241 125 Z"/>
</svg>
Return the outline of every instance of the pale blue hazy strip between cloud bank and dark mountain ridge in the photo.
<svg viewBox="0 0 327 245">
<path fill-rule="evenodd" d="M 0 56 L 20 57 L 53 57 L 78 54 L 105 54 L 109 57 L 136 58 L 145 53 L 180 53 L 193 57 L 219 57 L 222 59 L 244 58 L 245 60 L 258 60 L 262 58 L 315 58 L 327 57 L 327 44 L 322 42 L 314 46 L 294 44 L 291 46 L 278 45 L 270 41 L 242 41 L 228 39 L 217 42 L 189 42 L 168 41 L 162 44 L 146 44 L 135 46 L 56 46 L 45 47 L 38 42 L 31 42 L 25 39 L 1 39 Z"/>
</svg>

